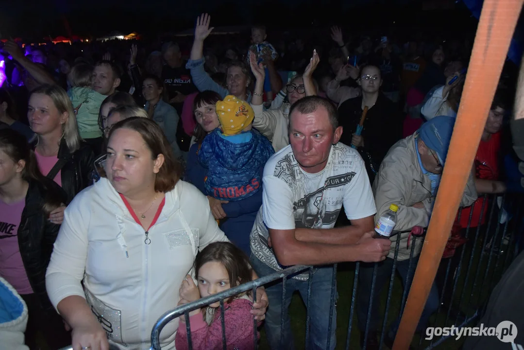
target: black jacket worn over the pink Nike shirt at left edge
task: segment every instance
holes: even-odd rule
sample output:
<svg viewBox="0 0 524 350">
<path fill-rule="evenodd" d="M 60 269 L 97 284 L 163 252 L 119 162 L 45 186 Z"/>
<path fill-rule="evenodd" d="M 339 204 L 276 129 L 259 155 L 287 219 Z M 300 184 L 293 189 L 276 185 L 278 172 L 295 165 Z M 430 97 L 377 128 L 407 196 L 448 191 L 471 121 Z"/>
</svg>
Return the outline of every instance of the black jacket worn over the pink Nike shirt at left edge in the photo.
<svg viewBox="0 0 524 350">
<path fill-rule="evenodd" d="M 51 259 L 54 240 L 60 225 L 52 224 L 42 209 L 48 191 L 56 192 L 67 204 L 66 195 L 60 186 L 50 179 L 43 179 L 46 186 L 37 181 L 30 181 L 26 194 L 26 205 L 22 211 L 18 226 L 18 246 L 24 262 L 29 283 L 46 311 L 52 310 L 46 292 L 46 270 Z"/>
</svg>

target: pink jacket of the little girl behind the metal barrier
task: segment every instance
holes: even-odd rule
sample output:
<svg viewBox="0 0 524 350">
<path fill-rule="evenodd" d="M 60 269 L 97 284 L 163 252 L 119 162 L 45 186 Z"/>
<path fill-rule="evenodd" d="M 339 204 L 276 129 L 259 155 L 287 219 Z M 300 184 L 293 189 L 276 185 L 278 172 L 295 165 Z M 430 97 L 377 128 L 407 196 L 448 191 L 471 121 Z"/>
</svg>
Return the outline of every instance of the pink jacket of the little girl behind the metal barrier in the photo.
<svg viewBox="0 0 524 350">
<path fill-rule="evenodd" d="M 246 299 L 236 299 L 231 304 L 225 305 L 224 323 L 228 349 L 253 349 L 253 315 L 249 313 L 252 310 L 252 305 L 253 303 Z M 200 321 L 198 322 L 200 323 Z M 192 319 L 190 319 L 190 323 L 193 349 L 222 348 L 220 309 L 216 310 L 215 319 L 209 326 L 207 324 L 204 327 L 195 325 L 197 329 L 193 331 Z M 183 333 L 183 336 L 181 333 Z M 180 322 L 175 343 L 177 350 L 188 348 L 185 333 L 185 324 L 182 325 L 182 322 Z"/>
</svg>

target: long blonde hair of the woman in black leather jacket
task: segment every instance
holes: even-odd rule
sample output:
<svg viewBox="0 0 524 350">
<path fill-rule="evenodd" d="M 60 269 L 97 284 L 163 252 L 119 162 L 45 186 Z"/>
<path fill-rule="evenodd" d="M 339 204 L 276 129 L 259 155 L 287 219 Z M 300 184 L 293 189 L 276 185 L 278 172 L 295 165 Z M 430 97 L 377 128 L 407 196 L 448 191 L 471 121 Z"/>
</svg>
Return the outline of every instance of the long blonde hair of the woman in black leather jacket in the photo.
<svg viewBox="0 0 524 350">
<path fill-rule="evenodd" d="M 80 134 L 78 133 L 77 117 L 74 115 L 73 105 L 64 89 L 58 85 L 43 84 L 31 92 L 32 94 L 41 93 L 48 96 L 54 103 L 54 107 L 58 109 L 60 114 L 68 114 L 67 120 L 62 124 L 62 138 L 65 140 L 69 148 L 69 152 L 73 153 L 80 149 Z"/>
</svg>

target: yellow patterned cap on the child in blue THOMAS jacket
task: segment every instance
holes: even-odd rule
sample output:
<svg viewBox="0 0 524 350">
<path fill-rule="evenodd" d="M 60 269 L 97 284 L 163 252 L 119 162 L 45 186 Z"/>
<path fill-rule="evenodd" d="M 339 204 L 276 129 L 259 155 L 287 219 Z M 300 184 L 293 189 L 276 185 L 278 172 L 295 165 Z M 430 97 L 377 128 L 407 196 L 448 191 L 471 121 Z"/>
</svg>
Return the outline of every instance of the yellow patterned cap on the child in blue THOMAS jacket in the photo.
<svg viewBox="0 0 524 350">
<path fill-rule="evenodd" d="M 216 102 L 216 114 L 219 116 L 222 132 L 236 135 L 253 122 L 255 112 L 246 101 L 228 95 L 224 101 Z"/>
</svg>

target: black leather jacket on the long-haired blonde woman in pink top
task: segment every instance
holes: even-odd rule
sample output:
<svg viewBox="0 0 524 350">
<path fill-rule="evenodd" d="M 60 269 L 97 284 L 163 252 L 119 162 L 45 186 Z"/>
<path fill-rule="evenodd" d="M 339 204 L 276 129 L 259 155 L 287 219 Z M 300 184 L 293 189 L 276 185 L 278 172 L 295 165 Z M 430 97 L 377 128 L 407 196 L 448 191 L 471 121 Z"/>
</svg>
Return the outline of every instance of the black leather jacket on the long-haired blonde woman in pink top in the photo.
<svg viewBox="0 0 524 350">
<path fill-rule="evenodd" d="M 58 149 L 58 159 L 67 161 L 61 169 L 61 180 L 69 203 L 82 189 L 93 184 L 90 179 L 91 172 L 94 171 L 95 155 L 91 146 L 83 140 L 80 142 L 80 149 L 71 153 L 67 143 L 62 139 Z"/>
</svg>

